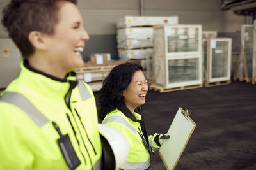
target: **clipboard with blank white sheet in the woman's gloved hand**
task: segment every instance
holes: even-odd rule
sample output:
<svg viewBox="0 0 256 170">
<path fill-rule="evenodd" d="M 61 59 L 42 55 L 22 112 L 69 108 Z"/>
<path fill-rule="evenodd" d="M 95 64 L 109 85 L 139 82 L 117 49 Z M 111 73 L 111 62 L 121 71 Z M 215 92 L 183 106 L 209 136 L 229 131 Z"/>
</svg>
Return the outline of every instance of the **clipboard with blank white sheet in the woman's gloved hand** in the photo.
<svg viewBox="0 0 256 170">
<path fill-rule="evenodd" d="M 196 124 L 189 117 L 187 110 L 184 111 L 179 108 L 167 132 L 170 139 L 164 141 L 159 149 L 159 156 L 163 160 L 166 169 L 175 168 L 195 127 Z"/>
</svg>

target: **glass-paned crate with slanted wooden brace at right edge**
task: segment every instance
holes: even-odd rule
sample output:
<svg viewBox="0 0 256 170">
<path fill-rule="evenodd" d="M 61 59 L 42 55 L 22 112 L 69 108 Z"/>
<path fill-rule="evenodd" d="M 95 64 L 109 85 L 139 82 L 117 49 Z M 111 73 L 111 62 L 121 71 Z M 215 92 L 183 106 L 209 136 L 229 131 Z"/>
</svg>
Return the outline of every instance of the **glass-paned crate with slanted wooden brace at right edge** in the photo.
<svg viewBox="0 0 256 170">
<path fill-rule="evenodd" d="M 256 81 L 256 26 L 242 25 L 241 52 L 237 60 L 234 80 L 255 84 Z"/>
</svg>

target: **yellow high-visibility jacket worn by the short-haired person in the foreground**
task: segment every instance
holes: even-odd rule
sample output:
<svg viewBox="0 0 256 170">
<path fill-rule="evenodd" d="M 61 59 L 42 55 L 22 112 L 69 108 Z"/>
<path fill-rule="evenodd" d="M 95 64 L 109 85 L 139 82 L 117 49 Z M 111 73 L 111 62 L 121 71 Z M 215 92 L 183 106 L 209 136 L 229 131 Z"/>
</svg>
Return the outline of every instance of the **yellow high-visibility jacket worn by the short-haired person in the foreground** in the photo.
<svg viewBox="0 0 256 170">
<path fill-rule="evenodd" d="M 0 96 L 0 169 L 100 169 L 97 124 L 86 83 L 53 78 L 24 61 Z"/>
</svg>

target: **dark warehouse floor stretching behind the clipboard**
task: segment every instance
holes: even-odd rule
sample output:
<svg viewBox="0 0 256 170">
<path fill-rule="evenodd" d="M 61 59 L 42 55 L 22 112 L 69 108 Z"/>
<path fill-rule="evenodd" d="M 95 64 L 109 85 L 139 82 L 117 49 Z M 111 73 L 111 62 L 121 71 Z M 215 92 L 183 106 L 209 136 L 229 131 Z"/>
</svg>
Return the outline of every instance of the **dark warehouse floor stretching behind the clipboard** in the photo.
<svg viewBox="0 0 256 170">
<path fill-rule="evenodd" d="M 179 107 L 192 110 L 196 128 L 175 169 L 256 169 L 256 85 L 232 81 L 174 92 L 148 90 L 143 106 L 148 134 L 166 133 Z M 165 169 L 158 153 L 151 155 L 150 169 Z"/>
</svg>

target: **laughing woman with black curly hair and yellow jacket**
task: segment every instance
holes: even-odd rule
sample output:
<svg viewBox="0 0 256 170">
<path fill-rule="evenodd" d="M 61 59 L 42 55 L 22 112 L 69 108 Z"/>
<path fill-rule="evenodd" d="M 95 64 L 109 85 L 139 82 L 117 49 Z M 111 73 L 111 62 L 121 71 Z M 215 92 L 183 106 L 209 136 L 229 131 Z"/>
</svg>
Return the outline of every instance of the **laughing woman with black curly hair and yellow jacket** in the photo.
<svg viewBox="0 0 256 170">
<path fill-rule="evenodd" d="M 115 127 L 129 142 L 124 169 L 149 169 L 150 153 L 169 136 L 155 133 L 147 136 L 142 108 L 148 91 L 143 67 L 127 62 L 114 67 L 103 82 L 99 96 L 102 124 Z"/>
</svg>

